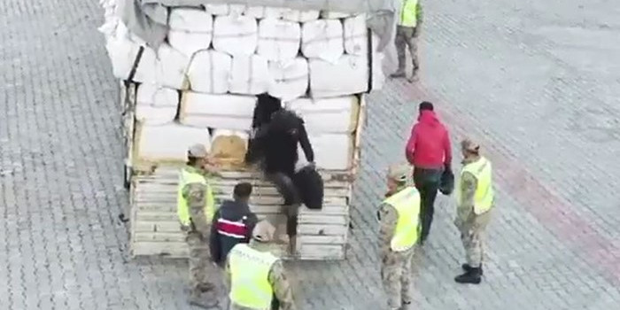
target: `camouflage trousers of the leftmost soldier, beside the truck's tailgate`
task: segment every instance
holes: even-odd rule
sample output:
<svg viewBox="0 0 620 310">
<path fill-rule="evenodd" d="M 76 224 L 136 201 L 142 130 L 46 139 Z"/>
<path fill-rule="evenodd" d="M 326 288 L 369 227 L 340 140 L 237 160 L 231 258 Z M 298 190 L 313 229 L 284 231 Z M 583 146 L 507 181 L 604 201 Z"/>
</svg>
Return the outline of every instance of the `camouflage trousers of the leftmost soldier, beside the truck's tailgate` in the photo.
<svg viewBox="0 0 620 310">
<path fill-rule="evenodd" d="M 185 237 L 185 241 L 190 247 L 190 288 L 191 293 L 199 295 L 208 288 L 213 288 L 213 277 L 218 276 L 220 272 L 217 267 L 211 263 L 211 253 L 209 252 L 209 244 L 198 232 L 189 232 Z"/>
</svg>

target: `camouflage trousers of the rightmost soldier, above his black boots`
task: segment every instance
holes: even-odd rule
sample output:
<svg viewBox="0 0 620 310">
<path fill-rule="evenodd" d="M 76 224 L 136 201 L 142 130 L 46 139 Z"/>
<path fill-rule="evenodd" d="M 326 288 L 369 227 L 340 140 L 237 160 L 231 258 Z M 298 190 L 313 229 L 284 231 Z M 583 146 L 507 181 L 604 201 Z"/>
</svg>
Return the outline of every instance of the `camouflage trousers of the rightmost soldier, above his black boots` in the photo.
<svg viewBox="0 0 620 310">
<path fill-rule="evenodd" d="M 489 224 L 491 212 L 472 215 L 460 228 L 465 258 L 471 267 L 480 267 L 484 257 L 483 234 Z"/>
</svg>

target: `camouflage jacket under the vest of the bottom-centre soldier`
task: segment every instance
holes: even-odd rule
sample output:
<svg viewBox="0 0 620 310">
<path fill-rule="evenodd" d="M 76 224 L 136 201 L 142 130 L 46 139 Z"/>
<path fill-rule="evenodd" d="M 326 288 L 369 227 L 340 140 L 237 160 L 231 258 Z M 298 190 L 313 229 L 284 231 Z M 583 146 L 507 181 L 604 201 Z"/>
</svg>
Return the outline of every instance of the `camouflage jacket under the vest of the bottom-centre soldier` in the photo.
<svg viewBox="0 0 620 310">
<path fill-rule="evenodd" d="M 260 252 L 268 251 L 268 244 L 260 244 L 255 240 L 250 241 L 250 247 L 254 250 Z M 230 260 L 229 257 L 226 258 L 226 286 L 230 288 Z M 295 306 L 295 302 L 293 301 L 293 293 L 291 288 L 291 283 L 286 276 L 286 272 L 284 271 L 284 266 L 282 264 L 282 260 L 278 260 L 274 263 L 274 265 L 269 270 L 269 274 L 267 275 L 267 281 L 271 284 L 272 289 L 274 290 L 275 298 L 278 299 L 280 303 L 280 310 L 297 310 L 297 306 Z M 244 306 L 237 306 L 233 303 L 230 305 L 230 310 L 256 310 Z"/>
</svg>

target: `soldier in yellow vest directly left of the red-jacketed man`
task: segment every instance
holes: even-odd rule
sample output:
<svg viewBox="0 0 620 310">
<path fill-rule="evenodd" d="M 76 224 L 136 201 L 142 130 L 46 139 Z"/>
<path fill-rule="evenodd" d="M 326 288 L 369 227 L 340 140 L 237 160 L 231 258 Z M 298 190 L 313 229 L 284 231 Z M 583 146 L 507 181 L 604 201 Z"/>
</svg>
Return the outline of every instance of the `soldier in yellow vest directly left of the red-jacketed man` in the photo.
<svg viewBox="0 0 620 310">
<path fill-rule="evenodd" d="M 390 309 L 407 309 L 411 305 L 411 260 L 418 239 L 420 194 L 407 186 L 411 174 L 408 165 L 391 166 L 388 193 L 377 212 L 381 223 L 379 249 L 381 279 Z"/>
</svg>

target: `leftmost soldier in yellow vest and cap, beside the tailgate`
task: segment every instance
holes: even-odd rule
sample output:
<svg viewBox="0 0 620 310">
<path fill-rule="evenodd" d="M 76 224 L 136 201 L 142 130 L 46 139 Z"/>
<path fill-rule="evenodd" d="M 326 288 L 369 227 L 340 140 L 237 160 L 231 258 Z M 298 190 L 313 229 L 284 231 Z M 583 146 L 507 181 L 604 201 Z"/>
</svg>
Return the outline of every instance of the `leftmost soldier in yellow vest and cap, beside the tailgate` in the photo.
<svg viewBox="0 0 620 310">
<path fill-rule="evenodd" d="M 202 144 L 191 146 L 188 158 L 187 166 L 182 168 L 180 175 L 177 212 L 190 249 L 190 304 L 212 308 L 218 302 L 211 279 L 218 275 L 218 270 L 211 263 L 208 244 L 215 212 L 208 177 L 215 173 L 215 169 Z M 212 298 L 203 298 L 202 293 L 205 292 L 213 292 Z"/>
</svg>

